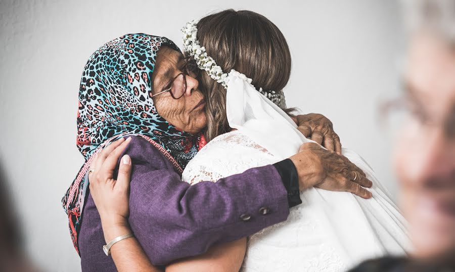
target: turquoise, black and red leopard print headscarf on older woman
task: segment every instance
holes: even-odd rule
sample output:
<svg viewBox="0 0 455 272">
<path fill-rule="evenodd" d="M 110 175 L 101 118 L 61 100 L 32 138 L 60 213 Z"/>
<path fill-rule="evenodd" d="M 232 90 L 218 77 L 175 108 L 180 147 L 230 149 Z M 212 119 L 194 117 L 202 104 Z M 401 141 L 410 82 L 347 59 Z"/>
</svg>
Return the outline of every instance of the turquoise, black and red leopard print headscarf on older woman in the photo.
<svg viewBox="0 0 455 272">
<path fill-rule="evenodd" d="M 184 132 L 162 118 L 153 104 L 151 88 L 161 46 L 178 52 L 165 37 L 127 34 L 107 42 L 85 65 L 79 87 L 76 145 L 85 158 L 62 199 L 74 247 L 78 251 L 87 170 L 92 158 L 109 143 L 139 135 L 158 148 L 180 173 L 205 144 L 203 134 Z"/>
</svg>

